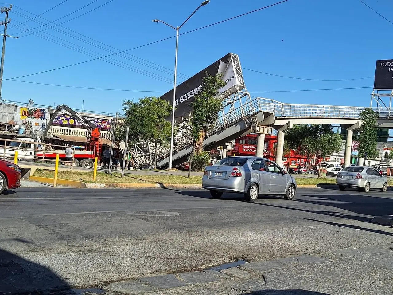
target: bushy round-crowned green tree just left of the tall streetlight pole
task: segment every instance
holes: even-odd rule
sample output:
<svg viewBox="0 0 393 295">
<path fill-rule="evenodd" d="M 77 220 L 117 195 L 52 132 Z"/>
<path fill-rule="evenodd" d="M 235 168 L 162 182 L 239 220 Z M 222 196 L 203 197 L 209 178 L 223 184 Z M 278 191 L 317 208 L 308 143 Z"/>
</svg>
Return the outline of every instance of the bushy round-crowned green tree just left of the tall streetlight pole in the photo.
<svg viewBox="0 0 393 295">
<path fill-rule="evenodd" d="M 154 142 L 154 169 L 156 169 L 158 144 L 168 142 L 171 136 L 171 122 L 167 121 L 172 111 L 171 103 L 149 96 L 141 98 L 138 102 L 124 101 L 123 110 L 125 113 L 123 120 L 126 124 L 130 124 L 130 143 L 139 140 Z M 125 129 L 122 130 L 125 133 Z"/>
</svg>

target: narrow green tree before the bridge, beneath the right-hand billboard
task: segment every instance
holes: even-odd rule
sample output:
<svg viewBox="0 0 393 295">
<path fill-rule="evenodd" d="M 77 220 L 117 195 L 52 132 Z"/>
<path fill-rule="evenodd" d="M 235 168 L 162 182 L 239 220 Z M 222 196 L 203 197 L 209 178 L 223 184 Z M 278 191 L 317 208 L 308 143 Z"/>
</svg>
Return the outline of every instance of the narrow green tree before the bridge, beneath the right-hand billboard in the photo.
<svg viewBox="0 0 393 295">
<path fill-rule="evenodd" d="M 372 158 L 377 154 L 376 118 L 378 118 L 378 114 L 371 108 L 365 108 L 359 114 L 362 125 L 358 129 L 359 134 L 355 136 L 355 140 L 359 142 L 359 157 L 364 157 L 363 165 L 365 165 L 367 157 Z"/>
</svg>

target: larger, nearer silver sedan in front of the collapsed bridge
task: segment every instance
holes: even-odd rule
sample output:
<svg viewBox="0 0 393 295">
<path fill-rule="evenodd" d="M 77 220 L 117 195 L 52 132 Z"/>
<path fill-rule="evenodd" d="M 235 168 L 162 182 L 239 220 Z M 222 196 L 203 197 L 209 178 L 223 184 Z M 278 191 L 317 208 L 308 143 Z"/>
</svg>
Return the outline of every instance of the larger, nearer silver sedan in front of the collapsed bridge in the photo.
<svg viewBox="0 0 393 295">
<path fill-rule="evenodd" d="M 291 175 L 275 162 L 258 157 L 228 157 L 206 167 L 202 187 L 214 198 L 223 192 L 244 194 L 247 201 L 255 201 L 259 194 L 283 194 L 293 200 L 297 184 Z"/>
</svg>

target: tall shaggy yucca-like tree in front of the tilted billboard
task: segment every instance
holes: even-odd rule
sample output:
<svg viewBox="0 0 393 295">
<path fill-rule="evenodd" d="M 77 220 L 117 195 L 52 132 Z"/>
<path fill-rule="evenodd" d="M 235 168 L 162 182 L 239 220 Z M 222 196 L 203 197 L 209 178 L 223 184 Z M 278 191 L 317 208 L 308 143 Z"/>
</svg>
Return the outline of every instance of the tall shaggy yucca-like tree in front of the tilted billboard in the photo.
<svg viewBox="0 0 393 295">
<path fill-rule="evenodd" d="M 202 90 L 194 96 L 191 103 L 193 107 L 193 115 L 190 120 L 191 136 L 193 140 L 193 150 L 190 158 L 188 169 L 188 177 L 191 177 L 191 163 L 194 155 L 203 150 L 203 141 L 214 123 L 217 121 L 218 113 L 222 108 L 222 99 L 217 97 L 219 89 L 224 87 L 226 83 L 221 79 L 222 74 L 211 76 L 206 73 L 206 77 L 202 78 Z"/>
</svg>

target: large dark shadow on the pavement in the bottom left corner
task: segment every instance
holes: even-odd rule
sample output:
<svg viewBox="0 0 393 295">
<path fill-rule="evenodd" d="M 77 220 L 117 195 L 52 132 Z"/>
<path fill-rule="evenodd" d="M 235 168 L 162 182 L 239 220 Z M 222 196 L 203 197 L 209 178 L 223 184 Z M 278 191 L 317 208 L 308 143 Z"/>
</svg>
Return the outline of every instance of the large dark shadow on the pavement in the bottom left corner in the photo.
<svg viewBox="0 0 393 295">
<path fill-rule="evenodd" d="M 45 266 L 0 249 L 0 294 L 70 289 L 62 278 Z"/>
</svg>

